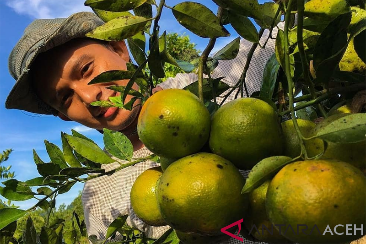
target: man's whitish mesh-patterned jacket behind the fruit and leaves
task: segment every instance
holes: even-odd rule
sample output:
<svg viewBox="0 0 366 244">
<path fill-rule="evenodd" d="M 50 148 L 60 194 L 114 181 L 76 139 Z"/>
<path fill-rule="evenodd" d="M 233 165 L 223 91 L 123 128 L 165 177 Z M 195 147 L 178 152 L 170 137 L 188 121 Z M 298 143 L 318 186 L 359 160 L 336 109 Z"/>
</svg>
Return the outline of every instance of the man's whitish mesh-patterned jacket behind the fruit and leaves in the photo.
<svg viewBox="0 0 366 244">
<path fill-rule="evenodd" d="M 262 45 L 267 40 L 268 35 L 269 31 L 266 30 L 261 38 Z M 273 30 L 272 37 L 276 37 L 276 35 L 277 29 Z M 219 65 L 214 70 L 212 77 L 218 78 L 225 76 L 222 81 L 230 86 L 234 86 L 240 79 L 251 46 L 251 42 L 242 39 L 240 41 L 238 56 L 233 60 L 219 61 Z M 260 90 L 264 67 L 270 56 L 274 53 L 274 50 L 275 40 L 273 39 L 269 39 L 265 49 L 258 47 L 255 50 L 247 73 L 249 94 Z M 178 74 L 175 78 L 169 78 L 166 82 L 161 83 L 158 86 L 163 89 L 182 89 L 196 80 L 197 75 L 195 74 Z M 235 94 L 236 91 L 234 91 L 225 102 L 233 100 Z M 221 101 L 222 98 L 218 98 L 218 102 Z M 142 149 L 135 151 L 133 157 L 140 158 L 150 154 L 152 153 L 146 147 L 143 147 Z M 114 159 L 116 161 L 119 160 L 117 158 Z M 120 162 L 126 163 L 123 161 Z M 102 168 L 108 171 L 117 168 L 118 166 L 120 166 L 119 163 L 115 162 L 113 164 L 102 165 Z M 120 170 L 112 176 L 99 177 L 85 183 L 82 201 L 88 235 L 95 234 L 99 239 L 104 239 L 109 224 L 119 215 L 126 214 L 128 214 L 127 224 L 145 232 L 150 238 L 158 238 L 170 228 L 169 226 L 153 227 L 145 224 L 135 215 L 130 203 L 130 190 L 136 178 L 146 169 L 156 166 L 159 166 L 159 164 L 152 161 L 146 161 Z M 242 173 L 247 177 L 247 172 L 242 171 Z M 242 228 L 244 228 L 243 225 Z M 116 236 L 114 241 L 116 240 L 119 240 L 119 236 Z M 234 238 L 225 242 L 225 244 L 243 243 L 254 244 L 254 242 L 246 239 L 244 239 L 244 242 L 241 242 Z"/>
</svg>

